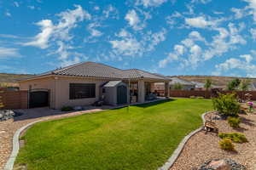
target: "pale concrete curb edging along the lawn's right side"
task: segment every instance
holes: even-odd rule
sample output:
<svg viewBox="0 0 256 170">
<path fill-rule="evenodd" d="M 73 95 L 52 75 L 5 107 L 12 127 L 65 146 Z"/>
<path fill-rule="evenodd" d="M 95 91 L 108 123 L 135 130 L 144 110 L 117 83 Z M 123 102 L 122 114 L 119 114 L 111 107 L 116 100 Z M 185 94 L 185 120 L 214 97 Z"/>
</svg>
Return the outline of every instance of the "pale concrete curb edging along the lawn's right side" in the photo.
<svg viewBox="0 0 256 170">
<path fill-rule="evenodd" d="M 206 122 L 205 116 L 211 112 L 212 111 L 207 111 L 201 115 L 201 119 L 203 120 L 203 125 Z M 185 136 L 183 138 L 183 140 L 178 144 L 177 149 L 174 150 L 174 152 L 172 153 L 172 156 L 166 161 L 166 163 L 162 167 L 158 168 L 158 170 L 169 170 L 172 167 L 172 165 L 174 164 L 174 162 L 177 160 L 177 157 L 181 154 L 185 144 L 189 141 L 189 139 L 192 136 L 194 136 L 195 133 L 200 132 L 202 129 L 203 129 L 203 126 L 197 128 L 195 131 L 193 131 L 193 132 L 189 133 L 187 136 Z"/>
</svg>

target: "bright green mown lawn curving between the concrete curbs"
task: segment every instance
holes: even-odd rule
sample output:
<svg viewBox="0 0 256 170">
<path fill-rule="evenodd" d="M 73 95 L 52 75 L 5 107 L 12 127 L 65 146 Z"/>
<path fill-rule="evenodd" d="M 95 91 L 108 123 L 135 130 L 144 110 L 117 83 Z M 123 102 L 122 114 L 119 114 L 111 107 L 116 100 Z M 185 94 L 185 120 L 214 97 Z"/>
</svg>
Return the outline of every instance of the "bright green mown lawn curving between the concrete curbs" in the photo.
<svg viewBox="0 0 256 170">
<path fill-rule="evenodd" d="M 172 99 L 39 122 L 15 165 L 28 169 L 157 169 L 212 110 L 207 99 Z"/>
</svg>

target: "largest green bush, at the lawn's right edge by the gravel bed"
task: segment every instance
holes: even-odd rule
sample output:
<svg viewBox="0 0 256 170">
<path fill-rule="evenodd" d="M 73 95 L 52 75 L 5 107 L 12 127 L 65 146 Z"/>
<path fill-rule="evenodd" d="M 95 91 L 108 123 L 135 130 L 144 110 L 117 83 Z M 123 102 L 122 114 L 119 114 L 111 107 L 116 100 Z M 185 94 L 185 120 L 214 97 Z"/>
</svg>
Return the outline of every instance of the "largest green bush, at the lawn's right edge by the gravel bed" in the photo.
<svg viewBox="0 0 256 170">
<path fill-rule="evenodd" d="M 240 111 L 235 94 L 218 94 L 218 98 L 212 99 L 212 104 L 222 116 L 237 116 Z"/>
</svg>

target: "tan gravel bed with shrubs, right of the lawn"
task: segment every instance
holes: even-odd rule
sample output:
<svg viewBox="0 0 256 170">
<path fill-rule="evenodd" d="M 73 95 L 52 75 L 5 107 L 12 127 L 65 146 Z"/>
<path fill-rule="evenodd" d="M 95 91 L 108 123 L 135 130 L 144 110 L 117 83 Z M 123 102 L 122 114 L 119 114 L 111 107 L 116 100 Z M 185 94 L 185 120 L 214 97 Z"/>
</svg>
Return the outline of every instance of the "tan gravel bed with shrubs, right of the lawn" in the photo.
<svg viewBox="0 0 256 170">
<path fill-rule="evenodd" d="M 216 116 L 210 113 L 206 116 L 209 120 L 210 117 Z M 173 164 L 170 170 L 181 169 L 198 169 L 201 165 L 212 159 L 225 159 L 230 158 L 241 165 L 247 167 L 247 170 L 256 169 L 256 114 L 240 115 L 241 127 L 233 129 L 229 126 L 227 121 L 213 120 L 216 122 L 219 133 L 244 133 L 248 139 L 247 143 L 236 144 L 236 152 L 228 152 L 221 150 L 218 146 L 220 138 L 216 133 L 205 133 L 201 131 L 196 133 L 188 143 L 184 146 L 181 155 Z"/>
</svg>

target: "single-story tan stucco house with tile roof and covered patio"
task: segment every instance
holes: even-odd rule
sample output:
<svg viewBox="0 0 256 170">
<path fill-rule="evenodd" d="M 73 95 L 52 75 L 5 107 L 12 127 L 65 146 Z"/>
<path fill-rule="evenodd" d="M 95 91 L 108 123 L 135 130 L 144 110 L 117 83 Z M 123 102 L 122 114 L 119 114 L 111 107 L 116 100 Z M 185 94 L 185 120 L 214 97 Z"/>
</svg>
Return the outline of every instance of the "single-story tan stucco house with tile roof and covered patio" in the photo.
<svg viewBox="0 0 256 170">
<path fill-rule="evenodd" d="M 20 90 L 29 91 L 30 107 L 92 105 L 103 99 L 108 105 L 143 103 L 154 99 L 151 84 L 166 84 L 169 94 L 170 78 L 137 69 L 121 70 L 112 66 L 84 62 L 35 77 L 21 80 Z M 130 86 L 129 86 L 130 85 Z"/>
</svg>

